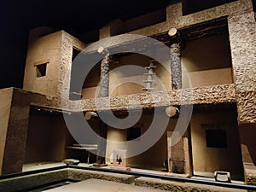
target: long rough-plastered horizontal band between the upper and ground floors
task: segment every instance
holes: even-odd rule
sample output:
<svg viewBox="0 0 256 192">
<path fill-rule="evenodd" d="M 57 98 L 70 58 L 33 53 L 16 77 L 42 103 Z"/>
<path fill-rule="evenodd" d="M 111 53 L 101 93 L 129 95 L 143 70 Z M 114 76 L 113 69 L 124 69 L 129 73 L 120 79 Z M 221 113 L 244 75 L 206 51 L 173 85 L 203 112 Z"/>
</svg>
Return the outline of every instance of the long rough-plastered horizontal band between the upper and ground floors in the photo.
<svg viewBox="0 0 256 192">
<path fill-rule="evenodd" d="M 98 109 L 113 110 L 132 108 L 129 102 L 138 101 L 142 108 L 166 107 L 169 105 L 189 105 L 218 102 L 236 102 L 234 84 L 222 84 L 184 90 L 168 90 L 151 93 L 142 93 L 128 96 L 113 96 L 110 98 L 87 99 L 74 103 L 73 107 L 82 106 L 84 111 L 96 110 L 95 102 L 101 103 Z M 69 105 L 72 108 L 71 105 Z M 73 108 L 75 110 L 75 108 Z M 77 108 L 78 109 L 78 108 Z M 136 109 L 136 108 L 135 108 Z"/>
</svg>

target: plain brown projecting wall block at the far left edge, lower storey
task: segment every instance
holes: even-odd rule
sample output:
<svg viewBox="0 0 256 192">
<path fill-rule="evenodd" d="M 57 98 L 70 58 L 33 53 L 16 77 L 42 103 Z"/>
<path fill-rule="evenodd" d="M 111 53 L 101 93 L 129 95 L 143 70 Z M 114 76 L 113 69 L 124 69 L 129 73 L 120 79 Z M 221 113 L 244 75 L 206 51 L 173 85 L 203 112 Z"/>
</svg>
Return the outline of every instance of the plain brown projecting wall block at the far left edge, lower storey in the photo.
<svg viewBox="0 0 256 192">
<path fill-rule="evenodd" d="M 14 88 L 1 91 L 0 101 L 0 174 L 4 175 L 22 171 L 30 105 L 29 97 Z"/>
</svg>

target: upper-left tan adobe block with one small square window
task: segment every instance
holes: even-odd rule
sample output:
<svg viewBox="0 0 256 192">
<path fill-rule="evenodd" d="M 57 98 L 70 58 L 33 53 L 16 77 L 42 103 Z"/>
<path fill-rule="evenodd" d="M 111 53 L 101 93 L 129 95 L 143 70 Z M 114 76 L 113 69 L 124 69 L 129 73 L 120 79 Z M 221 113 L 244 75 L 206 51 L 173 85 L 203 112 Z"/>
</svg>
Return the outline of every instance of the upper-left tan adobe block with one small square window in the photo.
<svg viewBox="0 0 256 192">
<path fill-rule="evenodd" d="M 44 28 L 43 28 L 44 29 Z M 41 28 L 32 30 L 26 55 L 24 90 L 46 96 L 62 96 L 69 93 L 69 84 L 63 88 L 63 76 L 70 75 L 73 47 L 84 49 L 84 44 L 67 32 L 60 31 L 40 35 Z M 44 77 L 37 77 L 37 66 L 47 63 Z M 67 80 L 70 78 L 67 77 Z M 62 89 L 64 91 L 62 91 Z"/>
</svg>

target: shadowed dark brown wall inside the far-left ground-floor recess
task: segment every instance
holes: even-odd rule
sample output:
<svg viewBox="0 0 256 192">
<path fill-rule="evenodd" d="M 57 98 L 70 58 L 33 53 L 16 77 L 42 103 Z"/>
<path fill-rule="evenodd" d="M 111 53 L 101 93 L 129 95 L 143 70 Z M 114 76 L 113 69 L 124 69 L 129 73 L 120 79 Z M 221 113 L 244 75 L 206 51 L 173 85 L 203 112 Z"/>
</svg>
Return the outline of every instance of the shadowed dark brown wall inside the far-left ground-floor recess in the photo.
<svg viewBox="0 0 256 192">
<path fill-rule="evenodd" d="M 30 115 L 24 162 L 64 160 L 65 146 L 73 143 L 61 116 Z"/>
</svg>

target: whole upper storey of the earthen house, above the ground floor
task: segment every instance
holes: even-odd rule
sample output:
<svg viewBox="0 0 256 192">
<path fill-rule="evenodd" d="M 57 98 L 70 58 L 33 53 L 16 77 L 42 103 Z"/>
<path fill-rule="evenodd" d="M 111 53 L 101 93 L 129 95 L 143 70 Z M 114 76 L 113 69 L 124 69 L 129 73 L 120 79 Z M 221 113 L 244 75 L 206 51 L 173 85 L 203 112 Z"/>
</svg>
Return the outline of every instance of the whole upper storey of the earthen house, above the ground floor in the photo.
<svg viewBox="0 0 256 192">
<path fill-rule="evenodd" d="M 100 40 L 91 44 L 84 44 L 63 31 L 49 33 L 45 28 L 33 30 L 26 57 L 24 90 L 67 100 L 71 95 L 79 94 L 85 100 L 96 98 L 101 76 L 100 66 L 104 57 L 97 49 L 103 47 L 112 55 L 109 65 L 109 96 L 119 98 L 136 94 L 133 97 L 143 97 L 148 94 L 143 90 L 146 86 L 143 81 L 147 80 L 143 75 L 147 73 L 147 69 L 143 67 L 154 60 L 154 55 L 150 55 L 150 50 L 144 46 L 143 41 L 145 37 L 154 38 L 159 44 L 165 44 L 169 48 L 173 43 L 168 35 L 171 28 L 176 28 L 182 39 L 183 49 L 180 54 L 183 86 L 180 91 L 172 89 L 171 58 L 165 57 L 161 53 L 162 49 L 157 47 L 154 52 L 160 53 L 162 58 L 161 62 L 154 61 L 155 81 L 151 92 L 166 91 L 173 98 L 180 92 L 195 90 L 198 94 L 195 97 L 201 96 L 201 102 L 206 103 L 235 101 L 232 94 L 226 94 L 217 100 L 211 99 L 212 96 L 208 93 L 212 93 L 214 89 L 236 91 L 236 98 L 242 98 L 239 95 L 241 93 L 255 90 L 253 75 L 248 76 L 255 72 L 255 15 L 252 1 L 238 0 L 189 15 L 183 15 L 182 3 L 175 2 L 166 8 L 166 20 L 163 22 L 113 35 L 113 29 L 118 26 L 113 22 L 102 27 L 99 30 Z M 128 34 L 132 35 L 127 38 Z M 82 53 L 79 54 L 80 52 Z M 84 55 L 88 62 L 77 62 L 79 57 L 76 55 Z M 94 65 L 88 70 L 86 66 L 90 66 L 90 60 Z M 135 68 L 125 68 L 128 65 Z M 84 75 L 84 71 L 88 74 Z M 77 84 L 77 80 L 79 86 L 73 86 Z M 226 89 L 230 90 L 223 90 L 225 84 Z M 233 84 L 236 85 L 236 90 L 233 90 Z M 94 107 L 87 109 L 90 108 Z"/>
</svg>

